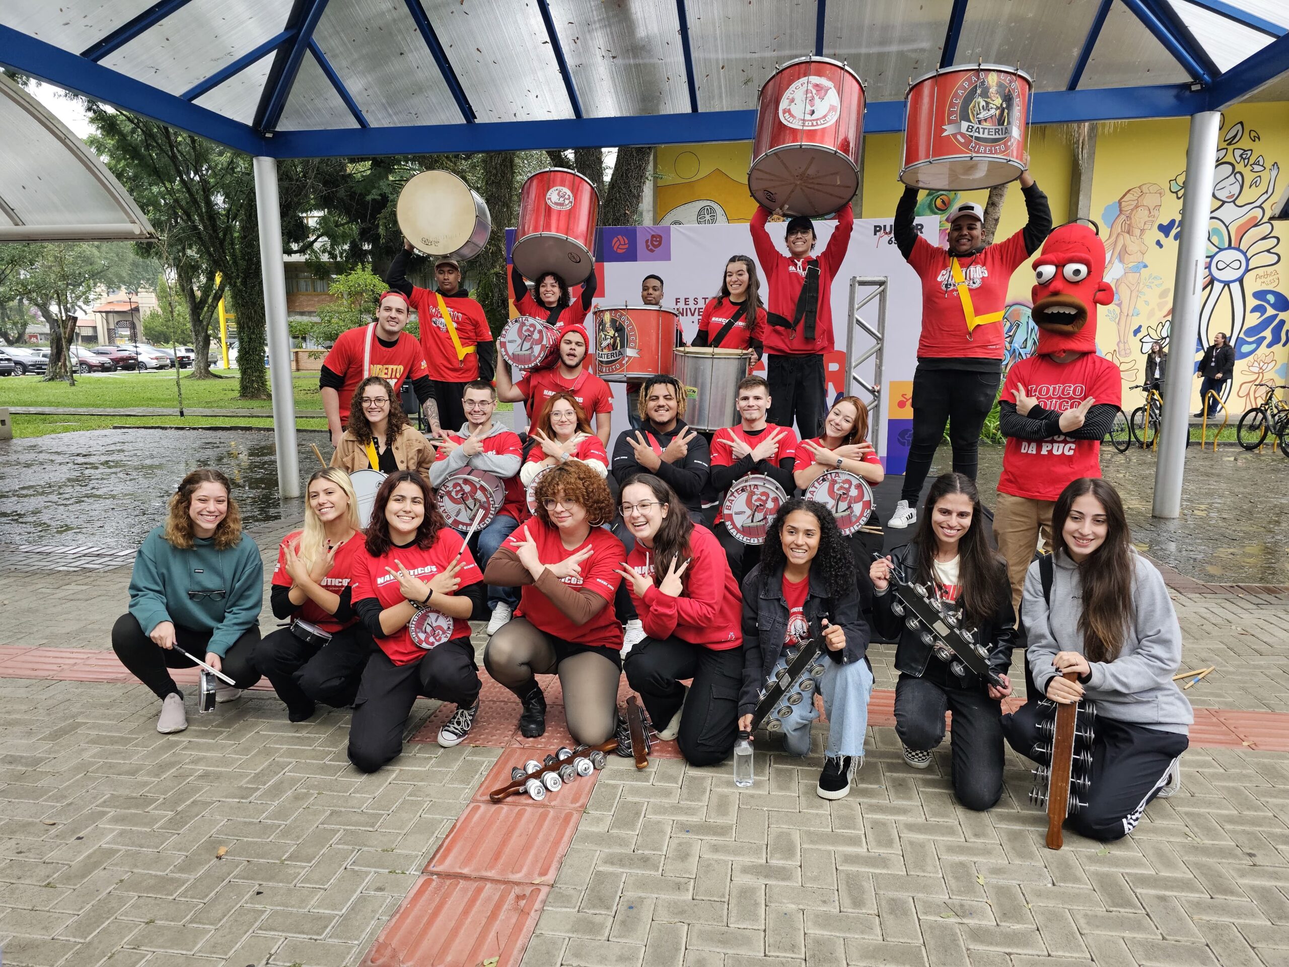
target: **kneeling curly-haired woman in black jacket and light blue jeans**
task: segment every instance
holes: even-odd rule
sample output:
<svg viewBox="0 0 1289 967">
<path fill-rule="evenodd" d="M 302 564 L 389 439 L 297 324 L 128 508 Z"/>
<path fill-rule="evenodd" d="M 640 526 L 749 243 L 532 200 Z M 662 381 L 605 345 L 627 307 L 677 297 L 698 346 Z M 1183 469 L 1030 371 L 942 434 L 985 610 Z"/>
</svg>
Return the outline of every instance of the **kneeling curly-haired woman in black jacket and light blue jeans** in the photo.
<svg viewBox="0 0 1289 967">
<path fill-rule="evenodd" d="M 742 691 L 739 695 L 739 730 L 751 731 L 761 690 L 797 649 L 822 637 L 812 676 L 824 696 L 828 739 L 824 771 L 816 793 L 840 799 L 864 765 L 864 731 L 873 695 L 873 667 L 867 659 L 869 627 L 860 615 L 855 587 L 855 561 L 833 513 L 815 500 L 785 500 L 766 534 L 761 563 L 742 581 Z M 790 714 L 775 716 L 784 732 L 784 748 L 807 756 L 811 723 L 819 718 L 808 690 L 803 701 L 785 696 Z"/>
</svg>

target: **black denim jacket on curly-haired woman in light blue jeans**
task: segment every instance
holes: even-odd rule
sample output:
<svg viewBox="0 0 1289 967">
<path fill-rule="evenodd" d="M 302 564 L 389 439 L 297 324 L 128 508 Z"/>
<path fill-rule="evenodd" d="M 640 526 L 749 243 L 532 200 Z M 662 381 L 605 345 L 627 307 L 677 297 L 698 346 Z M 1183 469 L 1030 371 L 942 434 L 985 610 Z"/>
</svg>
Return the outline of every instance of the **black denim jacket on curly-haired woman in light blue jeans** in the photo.
<svg viewBox="0 0 1289 967">
<path fill-rule="evenodd" d="M 869 625 L 860 616 L 860 592 L 851 583 L 847 593 L 833 597 L 822 578 L 809 575 L 809 591 L 802 616 L 809 623 L 811 634 L 822 632 L 822 619 L 846 630 L 846 647 L 840 651 L 824 649 L 825 655 L 838 664 L 867 661 Z M 757 710 L 757 698 L 770 677 L 788 630 L 788 602 L 784 601 L 782 570 L 770 575 L 764 588 L 761 565 L 742 579 L 742 690 L 739 692 L 739 714 Z M 871 668 L 871 663 L 869 664 Z"/>
</svg>

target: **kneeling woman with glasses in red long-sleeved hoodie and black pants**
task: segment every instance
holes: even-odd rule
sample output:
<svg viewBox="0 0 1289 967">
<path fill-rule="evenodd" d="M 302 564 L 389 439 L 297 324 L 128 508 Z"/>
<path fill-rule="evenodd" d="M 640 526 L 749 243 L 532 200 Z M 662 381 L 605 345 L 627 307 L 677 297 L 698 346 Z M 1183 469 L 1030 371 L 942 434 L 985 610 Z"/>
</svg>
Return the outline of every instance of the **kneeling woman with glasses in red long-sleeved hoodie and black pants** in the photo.
<svg viewBox="0 0 1289 967">
<path fill-rule="evenodd" d="M 739 583 L 721 542 L 693 526 L 681 498 L 660 478 L 638 473 L 626 481 L 621 511 L 635 547 L 619 574 L 646 634 L 626 656 L 626 681 L 650 719 L 669 723 L 660 739 L 677 739 L 691 765 L 714 766 L 739 737 Z M 693 683 L 686 689 L 682 678 Z"/>
</svg>

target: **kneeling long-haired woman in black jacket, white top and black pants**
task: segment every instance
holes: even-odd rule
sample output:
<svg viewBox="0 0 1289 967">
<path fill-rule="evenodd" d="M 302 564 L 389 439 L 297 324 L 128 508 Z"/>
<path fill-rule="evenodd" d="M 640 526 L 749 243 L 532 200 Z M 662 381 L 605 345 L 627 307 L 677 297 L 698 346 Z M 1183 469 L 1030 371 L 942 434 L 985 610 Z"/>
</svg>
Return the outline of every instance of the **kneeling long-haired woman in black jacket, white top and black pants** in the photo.
<svg viewBox="0 0 1289 967">
<path fill-rule="evenodd" d="M 884 638 L 898 636 L 895 667 L 895 730 L 904 761 L 931 765 L 931 750 L 945 737 L 945 712 L 954 713 L 953 783 L 969 810 L 987 810 L 1003 794 L 1002 700 L 1012 694 L 1016 615 L 1007 565 L 989 547 L 981 523 L 980 496 L 971 477 L 946 473 L 931 485 L 918 534 L 911 543 L 873 562 L 873 627 Z M 914 584 L 929 585 L 940 610 L 973 629 L 989 651 L 989 664 L 1003 687 L 971 670 L 956 674 L 909 628 L 892 607 L 892 563 Z"/>
</svg>

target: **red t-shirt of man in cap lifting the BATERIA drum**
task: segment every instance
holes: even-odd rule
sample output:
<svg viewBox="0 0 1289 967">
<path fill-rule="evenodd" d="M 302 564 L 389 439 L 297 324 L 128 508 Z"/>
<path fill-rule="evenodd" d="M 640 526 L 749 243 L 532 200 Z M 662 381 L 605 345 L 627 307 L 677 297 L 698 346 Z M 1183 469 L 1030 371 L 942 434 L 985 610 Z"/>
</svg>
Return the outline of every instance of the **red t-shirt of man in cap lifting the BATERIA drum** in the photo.
<svg viewBox="0 0 1289 967">
<path fill-rule="evenodd" d="M 987 246 L 978 255 L 959 260 L 976 317 L 1002 312 L 1007 306 L 1007 286 L 1030 255 L 1025 236 Z M 1000 360 L 1004 353 L 1003 320 L 976 326 L 969 338 L 958 285 L 953 280 L 947 249 L 932 245 L 920 235 L 909 253 L 909 264 L 922 278 L 922 335 L 919 358 Z"/>
</svg>

